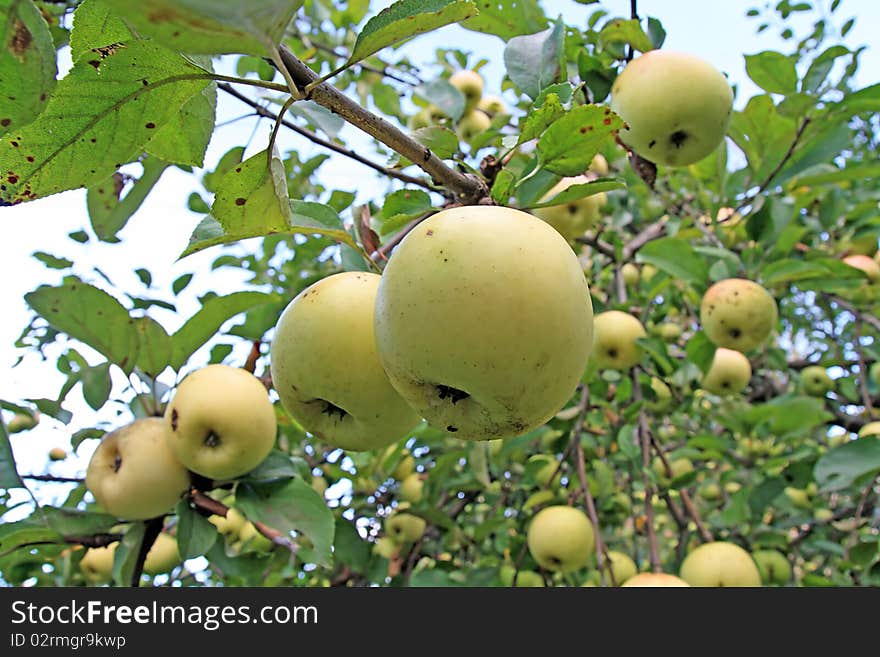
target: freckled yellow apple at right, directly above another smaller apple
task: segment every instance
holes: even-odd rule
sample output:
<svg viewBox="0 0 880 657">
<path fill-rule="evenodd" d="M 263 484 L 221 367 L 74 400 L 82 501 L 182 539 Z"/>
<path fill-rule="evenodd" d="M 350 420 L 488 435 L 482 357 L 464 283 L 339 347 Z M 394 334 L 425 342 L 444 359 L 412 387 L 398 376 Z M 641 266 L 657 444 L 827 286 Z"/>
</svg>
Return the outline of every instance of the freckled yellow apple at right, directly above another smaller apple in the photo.
<svg viewBox="0 0 880 657">
<path fill-rule="evenodd" d="M 703 295 L 700 323 L 716 346 L 751 351 L 767 341 L 779 311 L 763 287 L 744 278 L 718 281 Z"/>
</svg>

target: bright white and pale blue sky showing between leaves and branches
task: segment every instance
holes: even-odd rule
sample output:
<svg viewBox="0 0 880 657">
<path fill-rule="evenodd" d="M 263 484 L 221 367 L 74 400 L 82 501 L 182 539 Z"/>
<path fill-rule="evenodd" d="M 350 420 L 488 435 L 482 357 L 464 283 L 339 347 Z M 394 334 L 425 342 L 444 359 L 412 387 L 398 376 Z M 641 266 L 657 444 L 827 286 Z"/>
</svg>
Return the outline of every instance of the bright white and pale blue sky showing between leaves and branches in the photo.
<svg viewBox="0 0 880 657">
<path fill-rule="evenodd" d="M 704 0 L 643 0 L 639 3 L 639 11 L 643 18 L 651 15 L 661 19 L 667 31 L 665 48 L 699 55 L 727 73 L 739 88 L 736 103 L 739 108 L 758 91 L 745 75 L 743 54 L 762 50 L 788 52 L 790 48 L 789 44 L 778 37 L 779 30 L 773 27 L 762 35 L 755 35 L 757 21 L 745 17 L 745 12 L 755 4 L 757 2 L 739 0 L 711 3 Z M 827 6 L 829 2 L 822 4 Z M 549 16 L 562 14 L 571 24 L 584 24 L 586 16 L 596 9 L 596 5 L 584 6 L 562 0 L 544 2 L 544 6 Z M 602 7 L 612 15 L 629 16 L 628 0 L 605 0 Z M 802 36 L 805 33 L 808 20 L 813 16 L 812 13 L 804 14 L 795 21 L 794 25 L 800 27 L 797 34 Z M 852 48 L 859 45 L 869 46 L 862 56 L 859 76 L 860 85 L 867 86 L 876 83 L 880 77 L 877 73 L 880 71 L 880 46 L 877 45 L 876 38 L 876 26 L 880 25 L 880 2 L 844 0 L 836 14 L 835 23 L 840 25 L 851 16 L 857 16 L 858 21 L 846 43 Z M 435 34 L 417 38 L 407 44 L 405 51 L 416 62 L 428 61 L 438 47 L 469 50 L 475 54 L 474 62 L 481 57 L 487 58 L 490 64 L 481 71 L 487 78 L 486 92 L 499 92 L 503 76 L 501 55 L 504 42 L 501 39 L 450 26 Z M 221 93 L 218 121 L 241 116 L 245 114 L 245 110 L 241 103 Z M 268 142 L 270 129 L 270 124 L 263 121 L 254 133 L 254 121 L 250 119 L 220 128 L 208 150 L 206 161 L 209 168 L 213 168 L 220 155 L 230 147 L 246 142 L 252 133 L 254 136 L 248 154 L 262 150 Z M 355 129 L 348 127 L 343 134 L 351 138 L 351 143 L 362 144 L 366 152 L 371 151 L 369 141 Z M 285 134 L 284 131 L 281 133 L 279 146 L 282 151 L 289 148 L 300 149 L 303 155 L 321 152 L 304 139 Z M 362 198 L 375 196 L 377 190 L 384 189 L 384 184 L 376 180 L 369 169 L 342 157 L 325 164 L 321 174 L 329 188 L 357 191 Z M 241 276 L 227 271 L 209 271 L 210 262 L 219 254 L 216 249 L 176 261 L 200 219 L 200 216 L 186 208 L 189 193 L 197 188 L 197 181 L 190 175 L 176 169 L 166 171 L 140 211 L 120 233 L 122 243 L 117 245 L 102 244 L 94 240 L 86 245 L 78 245 L 67 239 L 66 236 L 71 231 L 82 228 L 89 230 L 84 191 L 67 192 L 0 209 L 4 226 L 4 233 L 0 238 L 0 275 L 3 280 L 0 286 L 0 399 L 18 402 L 28 397 L 52 398 L 64 380 L 54 368 L 54 358 L 48 363 L 42 363 L 38 357 L 30 355 L 25 366 L 12 369 L 13 363 L 21 355 L 13 344 L 30 317 L 23 295 L 40 283 L 56 284 L 60 280 L 57 272 L 46 270 L 31 258 L 34 251 L 46 251 L 74 260 L 74 271 L 86 280 L 98 282 L 91 273 L 93 267 L 98 267 L 121 289 L 166 300 L 171 300 L 170 284 L 175 278 L 183 273 L 200 272 L 190 288 L 177 300 L 179 314 L 165 311 L 153 314 L 169 332 L 176 329 L 197 308 L 198 294 L 208 290 L 228 293 L 240 289 L 243 280 Z M 152 290 L 145 290 L 134 275 L 133 271 L 138 267 L 145 267 L 152 272 Z M 242 348 L 244 351 L 241 352 L 240 359 L 246 353 L 246 347 L 243 345 Z M 93 364 L 100 362 L 100 357 L 85 353 Z M 124 383 L 121 378 L 120 383 Z M 120 386 L 114 389 L 115 395 L 121 392 Z M 12 442 L 20 471 L 48 471 L 68 476 L 84 472 L 95 441 L 85 443 L 78 457 L 62 463 L 47 463 L 46 454 L 49 448 L 55 445 L 67 447 L 71 433 L 82 427 L 93 426 L 96 421 L 96 415 L 82 401 L 79 387 L 70 394 L 65 406 L 74 412 L 74 421 L 70 426 L 65 427 L 44 418 L 37 429 L 13 436 Z M 121 407 L 114 411 L 119 408 Z M 112 413 L 105 412 L 101 419 L 110 420 L 112 416 Z M 126 419 L 128 416 L 122 417 Z M 49 501 L 49 489 L 40 488 L 41 497 Z M 66 490 L 66 487 L 63 488 Z"/>
</svg>

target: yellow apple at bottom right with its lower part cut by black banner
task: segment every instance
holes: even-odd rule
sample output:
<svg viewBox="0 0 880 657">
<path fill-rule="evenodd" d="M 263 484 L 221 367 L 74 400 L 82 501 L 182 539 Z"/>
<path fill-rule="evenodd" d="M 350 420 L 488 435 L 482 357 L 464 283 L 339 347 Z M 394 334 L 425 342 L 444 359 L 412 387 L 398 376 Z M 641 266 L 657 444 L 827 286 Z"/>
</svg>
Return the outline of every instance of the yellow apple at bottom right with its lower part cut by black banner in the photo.
<svg viewBox="0 0 880 657">
<path fill-rule="evenodd" d="M 761 586 L 761 574 L 751 555 L 724 541 L 695 548 L 682 562 L 679 576 L 691 586 Z"/>
</svg>

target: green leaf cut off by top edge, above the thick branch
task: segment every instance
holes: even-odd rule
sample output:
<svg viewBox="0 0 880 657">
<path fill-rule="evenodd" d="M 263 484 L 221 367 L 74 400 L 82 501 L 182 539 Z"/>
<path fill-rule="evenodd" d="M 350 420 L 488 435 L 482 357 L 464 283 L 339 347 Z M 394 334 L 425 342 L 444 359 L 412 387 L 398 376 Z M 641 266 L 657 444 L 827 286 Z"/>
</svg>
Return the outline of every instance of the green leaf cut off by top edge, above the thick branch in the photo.
<svg viewBox="0 0 880 657">
<path fill-rule="evenodd" d="M 147 35 L 190 54 L 265 55 L 303 0 L 140 0 L 108 7 Z"/>
</svg>

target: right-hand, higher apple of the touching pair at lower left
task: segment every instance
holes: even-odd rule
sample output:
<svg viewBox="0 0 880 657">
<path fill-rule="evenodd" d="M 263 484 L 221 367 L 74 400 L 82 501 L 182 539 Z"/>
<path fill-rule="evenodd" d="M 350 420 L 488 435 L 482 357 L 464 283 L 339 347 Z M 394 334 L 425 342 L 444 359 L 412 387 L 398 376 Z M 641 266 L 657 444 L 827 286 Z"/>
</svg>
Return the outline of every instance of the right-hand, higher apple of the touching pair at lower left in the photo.
<svg viewBox="0 0 880 657">
<path fill-rule="evenodd" d="M 263 383 L 229 365 L 208 365 L 177 385 L 165 409 L 169 444 L 193 472 L 223 481 L 262 463 L 275 445 L 275 408 Z"/>
</svg>

